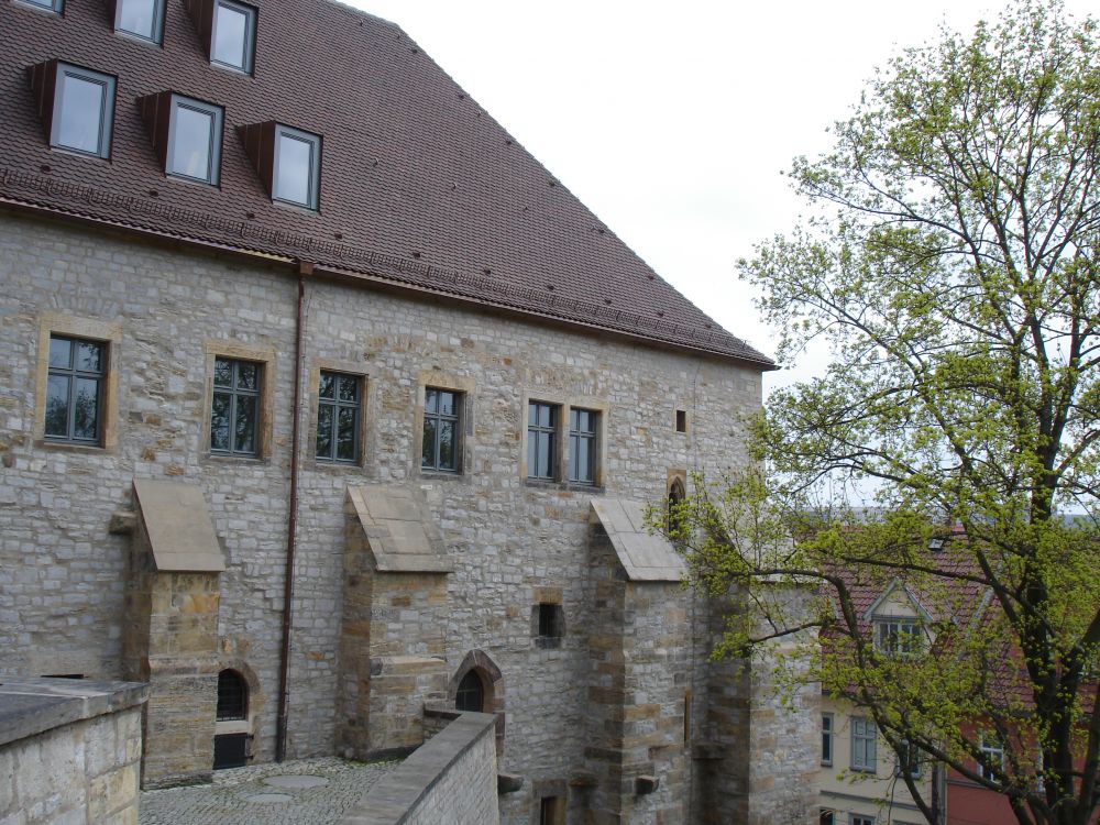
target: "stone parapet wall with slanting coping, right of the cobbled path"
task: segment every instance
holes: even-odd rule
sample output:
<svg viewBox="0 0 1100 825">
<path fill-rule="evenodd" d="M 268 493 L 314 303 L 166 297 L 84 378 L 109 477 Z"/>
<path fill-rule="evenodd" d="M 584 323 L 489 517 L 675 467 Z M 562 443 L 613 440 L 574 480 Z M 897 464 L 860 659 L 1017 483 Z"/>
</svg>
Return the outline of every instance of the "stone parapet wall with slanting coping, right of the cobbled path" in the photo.
<svg viewBox="0 0 1100 825">
<path fill-rule="evenodd" d="M 496 719 L 464 713 L 383 778 L 339 825 L 495 825 Z"/>
</svg>

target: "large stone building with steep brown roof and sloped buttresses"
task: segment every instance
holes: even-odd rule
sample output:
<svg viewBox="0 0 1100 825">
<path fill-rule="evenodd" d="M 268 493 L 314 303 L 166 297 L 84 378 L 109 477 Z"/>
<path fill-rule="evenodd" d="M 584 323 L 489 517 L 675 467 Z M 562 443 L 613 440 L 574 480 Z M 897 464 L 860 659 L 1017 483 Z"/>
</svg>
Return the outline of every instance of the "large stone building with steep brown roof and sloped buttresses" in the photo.
<svg viewBox="0 0 1100 825">
<path fill-rule="evenodd" d="M 497 714 L 506 822 L 809 820 L 814 697 L 708 661 L 644 518 L 746 460 L 765 356 L 391 23 L 0 31 L 0 673 L 147 682 L 145 787 L 442 705 Z"/>
</svg>

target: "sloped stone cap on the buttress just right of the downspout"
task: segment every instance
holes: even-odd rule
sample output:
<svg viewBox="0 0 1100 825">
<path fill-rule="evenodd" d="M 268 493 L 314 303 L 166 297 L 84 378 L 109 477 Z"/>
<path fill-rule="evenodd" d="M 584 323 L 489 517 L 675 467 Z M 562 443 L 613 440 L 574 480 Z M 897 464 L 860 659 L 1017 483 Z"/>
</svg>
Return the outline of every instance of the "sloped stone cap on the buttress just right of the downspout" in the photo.
<svg viewBox="0 0 1100 825">
<path fill-rule="evenodd" d="M 382 573 L 450 573 L 443 536 L 428 505 L 403 487 L 349 486 L 348 502 Z"/>
</svg>

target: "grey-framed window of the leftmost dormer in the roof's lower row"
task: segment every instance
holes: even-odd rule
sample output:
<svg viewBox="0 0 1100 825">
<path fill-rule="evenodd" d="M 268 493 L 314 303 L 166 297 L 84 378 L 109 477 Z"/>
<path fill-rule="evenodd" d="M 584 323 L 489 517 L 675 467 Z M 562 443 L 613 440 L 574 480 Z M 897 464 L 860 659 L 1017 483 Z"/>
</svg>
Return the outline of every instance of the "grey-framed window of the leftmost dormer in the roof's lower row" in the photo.
<svg viewBox="0 0 1100 825">
<path fill-rule="evenodd" d="M 108 157 L 113 119 L 114 78 L 58 63 L 50 145 Z"/>
</svg>

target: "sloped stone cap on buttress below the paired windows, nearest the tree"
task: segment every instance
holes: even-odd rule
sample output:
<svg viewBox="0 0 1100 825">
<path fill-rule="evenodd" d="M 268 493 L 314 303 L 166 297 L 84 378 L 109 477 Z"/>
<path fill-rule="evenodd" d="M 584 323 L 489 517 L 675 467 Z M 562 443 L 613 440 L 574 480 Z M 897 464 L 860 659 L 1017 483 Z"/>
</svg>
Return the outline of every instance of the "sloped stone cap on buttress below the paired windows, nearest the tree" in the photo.
<svg viewBox="0 0 1100 825">
<path fill-rule="evenodd" d="M 679 582 L 683 578 L 683 559 L 672 542 L 650 532 L 640 502 L 593 498 L 590 520 L 603 526 L 630 581 Z"/>
</svg>

